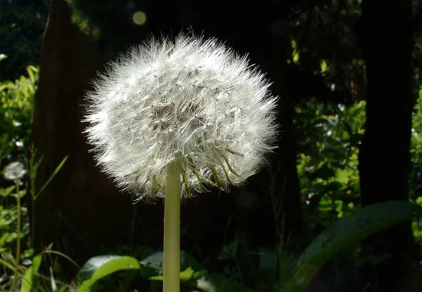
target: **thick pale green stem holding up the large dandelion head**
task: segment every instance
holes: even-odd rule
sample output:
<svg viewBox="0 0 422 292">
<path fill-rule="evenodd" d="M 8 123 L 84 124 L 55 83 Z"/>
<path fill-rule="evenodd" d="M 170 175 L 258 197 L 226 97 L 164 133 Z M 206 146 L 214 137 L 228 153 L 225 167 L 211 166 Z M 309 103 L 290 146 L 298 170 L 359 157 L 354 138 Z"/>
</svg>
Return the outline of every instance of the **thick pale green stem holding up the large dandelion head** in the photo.
<svg viewBox="0 0 422 292">
<path fill-rule="evenodd" d="M 180 192 L 181 162 L 167 166 L 164 202 L 163 291 L 180 290 Z"/>
</svg>

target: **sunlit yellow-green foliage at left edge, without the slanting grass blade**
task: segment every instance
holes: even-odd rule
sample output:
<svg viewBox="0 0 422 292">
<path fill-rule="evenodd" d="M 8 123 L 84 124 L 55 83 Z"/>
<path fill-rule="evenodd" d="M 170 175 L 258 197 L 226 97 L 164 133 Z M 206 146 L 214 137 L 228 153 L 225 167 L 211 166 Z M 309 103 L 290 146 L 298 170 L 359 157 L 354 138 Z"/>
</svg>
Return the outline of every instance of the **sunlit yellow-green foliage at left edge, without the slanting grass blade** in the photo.
<svg viewBox="0 0 422 292">
<path fill-rule="evenodd" d="M 36 67 L 28 66 L 27 77 L 22 76 L 14 82 L 0 83 L 0 132 L 4 133 L 0 144 L 0 166 L 11 161 L 23 160 L 24 145 L 30 133 L 37 73 Z M 23 241 L 30 233 L 27 208 L 20 204 L 21 198 L 26 194 L 26 188 L 22 187 L 24 182 L 21 179 L 8 183 L 2 178 L 0 178 L 0 253 L 3 258 L 2 264 L 9 267 L 8 272 L 13 271 L 13 279 L 16 279 L 22 268 L 20 259 L 29 260 L 32 255 L 31 246 Z M 13 281 L 11 286 L 15 283 Z"/>
</svg>

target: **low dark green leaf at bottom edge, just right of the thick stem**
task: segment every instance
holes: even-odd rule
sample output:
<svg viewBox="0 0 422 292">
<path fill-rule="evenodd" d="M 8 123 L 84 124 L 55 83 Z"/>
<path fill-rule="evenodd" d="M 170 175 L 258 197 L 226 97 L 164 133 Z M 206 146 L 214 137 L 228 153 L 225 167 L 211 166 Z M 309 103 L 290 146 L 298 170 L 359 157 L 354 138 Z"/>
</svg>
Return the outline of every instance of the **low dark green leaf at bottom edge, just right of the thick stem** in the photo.
<svg viewBox="0 0 422 292">
<path fill-rule="evenodd" d="M 247 286 L 221 274 L 205 274 L 198 279 L 196 287 L 205 292 L 252 292 Z"/>
</svg>

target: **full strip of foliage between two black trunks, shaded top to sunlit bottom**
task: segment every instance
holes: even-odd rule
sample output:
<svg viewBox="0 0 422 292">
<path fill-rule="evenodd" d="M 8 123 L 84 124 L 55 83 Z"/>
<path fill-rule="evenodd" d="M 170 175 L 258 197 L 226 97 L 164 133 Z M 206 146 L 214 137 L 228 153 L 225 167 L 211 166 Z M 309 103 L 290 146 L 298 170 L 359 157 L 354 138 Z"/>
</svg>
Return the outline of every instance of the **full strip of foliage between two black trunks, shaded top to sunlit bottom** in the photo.
<svg viewBox="0 0 422 292">
<path fill-rule="evenodd" d="M 290 57 L 300 190 L 312 230 L 359 206 L 366 77 L 352 27 L 360 2 L 304 2 L 290 13 Z"/>
</svg>

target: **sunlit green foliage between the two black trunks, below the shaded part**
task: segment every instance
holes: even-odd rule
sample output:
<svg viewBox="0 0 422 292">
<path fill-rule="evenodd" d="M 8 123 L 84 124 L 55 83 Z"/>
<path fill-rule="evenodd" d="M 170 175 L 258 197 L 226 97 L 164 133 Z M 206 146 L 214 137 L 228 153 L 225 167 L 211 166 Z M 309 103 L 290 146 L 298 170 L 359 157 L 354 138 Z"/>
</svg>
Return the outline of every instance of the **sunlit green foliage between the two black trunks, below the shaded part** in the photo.
<svg viewBox="0 0 422 292">
<path fill-rule="evenodd" d="M 297 168 L 307 204 L 306 220 L 327 225 L 359 204 L 357 170 L 365 102 L 334 105 L 316 99 L 295 107 Z"/>
</svg>

